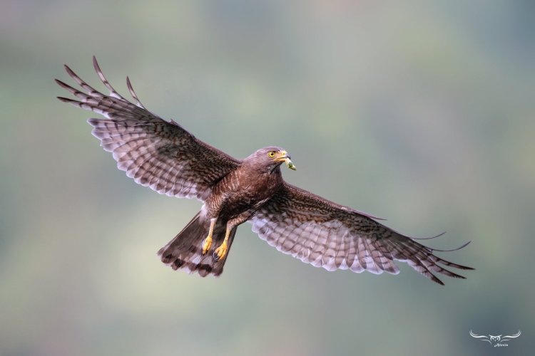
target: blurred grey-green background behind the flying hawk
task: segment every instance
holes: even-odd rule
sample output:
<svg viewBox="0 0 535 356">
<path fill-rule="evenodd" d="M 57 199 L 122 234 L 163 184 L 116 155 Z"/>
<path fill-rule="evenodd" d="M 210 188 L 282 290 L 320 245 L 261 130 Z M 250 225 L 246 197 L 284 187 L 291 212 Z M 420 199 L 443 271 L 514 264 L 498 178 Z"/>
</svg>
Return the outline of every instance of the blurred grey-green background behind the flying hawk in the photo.
<svg viewBox="0 0 535 356">
<path fill-rule="evenodd" d="M 533 1 L 1 1 L 0 355 L 527 355 Z M 220 278 L 156 256 L 198 201 L 116 169 L 68 63 L 235 157 L 387 218 L 467 280 L 327 272 L 240 227 Z M 102 86 L 98 86 L 102 88 Z M 511 334 L 493 349 L 469 336 Z M 531 351 L 531 352 L 530 352 Z"/>
</svg>

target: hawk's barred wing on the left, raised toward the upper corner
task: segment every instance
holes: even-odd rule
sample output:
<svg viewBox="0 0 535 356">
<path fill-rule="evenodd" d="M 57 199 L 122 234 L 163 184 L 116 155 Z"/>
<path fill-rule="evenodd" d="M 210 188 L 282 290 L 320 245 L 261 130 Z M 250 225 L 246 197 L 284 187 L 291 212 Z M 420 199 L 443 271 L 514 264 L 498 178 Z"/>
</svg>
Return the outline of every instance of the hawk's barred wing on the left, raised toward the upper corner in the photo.
<svg viewBox="0 0 535 356">
<path fill-rule="evenodd" d="M 238 167 L 240 160 L 197 140 L 173 120 L 165 121 L 146 110 L 128 77 L 126 83 L 136 105 L 112 88 L 95 57 L 93 66 L 109 95 L 98 92 L 65 66 L 86 93 L 56 79 L 61 88 L 78 98 L 58 99 L 105 117 L 88 120 L 93 135 L 101 140 L 104 150 L 112 152 L 118 169 L 136 183 L 160 194 L 204 201 L 213 184 Z"/>
</svg>

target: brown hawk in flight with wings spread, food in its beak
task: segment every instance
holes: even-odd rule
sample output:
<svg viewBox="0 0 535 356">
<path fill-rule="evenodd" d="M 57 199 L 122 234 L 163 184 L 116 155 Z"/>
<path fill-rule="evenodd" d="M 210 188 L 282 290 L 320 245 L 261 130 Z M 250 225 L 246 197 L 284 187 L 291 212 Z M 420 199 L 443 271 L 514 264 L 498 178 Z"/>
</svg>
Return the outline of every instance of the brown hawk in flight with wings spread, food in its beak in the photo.
<svg viewBox="0 0 535 356">
<path fill-rule="evenodd" d="M 126 84 L 135 103 L 113 89 L 94 56 L 93 66 L 109 94 L 94 89 L 65 66 L 81 90 L 56 79 L 77 100 L 58 99 L 103 115 L 88 120 L 92 133 L 103 149 L 112 153 L 118 169 L 136 183 L 170 197 L 203 202 L 188 225 L 158 251 L 161 261 L 174 270 L 219 276 L 236 229 L 245 221 L 278 251 L 327 271 L 397 274 L 397 260 L 443 285 L 433 273 L 464 278 L 444 266 L 473 269 L 434 254 L 455 251 L 468 243 L 454 250 L 429 248 L 380 224 L 370 214 L 286 183 L 280 166 L 285 163 L 295 169 L 295 165 L 281 147 L 260 148 L 244 159 L 230 157 L 174 120 L 148 111 L 128 77 Z"/>
</svg>

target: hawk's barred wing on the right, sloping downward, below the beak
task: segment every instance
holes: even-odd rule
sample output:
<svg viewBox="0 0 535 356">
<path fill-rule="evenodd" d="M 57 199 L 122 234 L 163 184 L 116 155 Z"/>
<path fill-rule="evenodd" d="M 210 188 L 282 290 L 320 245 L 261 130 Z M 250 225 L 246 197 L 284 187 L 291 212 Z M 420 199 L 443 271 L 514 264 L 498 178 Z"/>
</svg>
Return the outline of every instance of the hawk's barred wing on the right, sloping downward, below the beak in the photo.
<svg viewBox="0 0 535 356">
<path fill-rule="evenodd" d="M 379 224 L 372 216 L 290 184 L 283 185 L 250 221 L 253 231 L 267 244 L 327 271 L 397 274 L 397 260 L 443 285 L 432 272 L 464 277 L 439 265 L 473 269 L 435 256 L 433 248 Z"/>
</svg>

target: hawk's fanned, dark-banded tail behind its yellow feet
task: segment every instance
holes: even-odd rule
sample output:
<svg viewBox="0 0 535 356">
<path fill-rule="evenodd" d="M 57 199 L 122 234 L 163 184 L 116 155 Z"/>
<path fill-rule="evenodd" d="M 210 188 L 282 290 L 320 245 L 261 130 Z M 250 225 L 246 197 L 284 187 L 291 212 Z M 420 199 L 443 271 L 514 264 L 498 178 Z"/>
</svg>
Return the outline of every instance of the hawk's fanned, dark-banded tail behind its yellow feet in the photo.
<svg viewBox="0 0 535 356">
<path fill-rule="evenodd" d="M 225 258 L 217 262 L 213 260 L 212 255 L 215 248 L 218 248 L 223 243 L 223 239 L 225 239 L 226 224 L 220 221 L 215 224 L 212 247 L 203 256 L 203 241 L 208 236 L 209 228 L 210 219 L 199 211 L 173 240 L 160 248 L 158 256 L 161 257 L 163 263 L 174 270 L 182 268 L 187 273 L 196 271 L 203 277 L 208 276 L 210 273 L 214 276 L 219 276 L 223 273 L 223 266 L 227 261 L 228 253 Z M 233 229 L 229 236 L 228 252 L 230 252 L 235 234 L 236 229 Z"/>
</svg>

